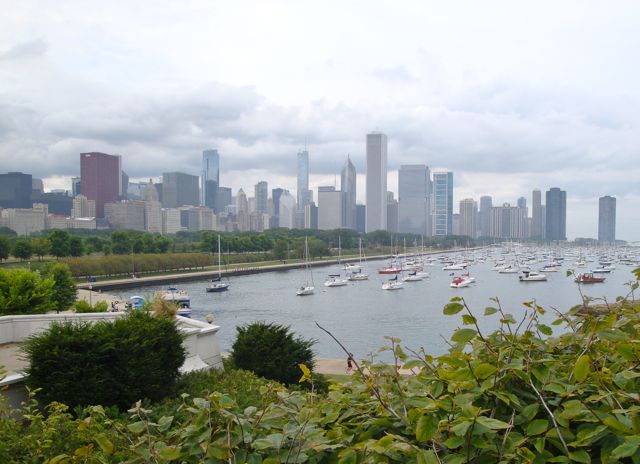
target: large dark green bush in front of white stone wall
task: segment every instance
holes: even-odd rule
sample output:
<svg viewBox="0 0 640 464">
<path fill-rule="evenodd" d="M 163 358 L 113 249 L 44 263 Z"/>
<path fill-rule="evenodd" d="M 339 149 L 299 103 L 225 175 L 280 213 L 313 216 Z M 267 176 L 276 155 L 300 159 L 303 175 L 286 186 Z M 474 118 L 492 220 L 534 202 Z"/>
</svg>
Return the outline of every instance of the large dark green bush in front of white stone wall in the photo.
<svg viewBox="0 0 640 464">
<path fill-rule="evenodd" d="M 54 323 L 25 341 L 27 385 L 38 398 L 70 407 L 126 409 L 136 400 L 172 393 L 185 359 L 175 320 L 135 311 L 95 324 Z"/>
</svg>

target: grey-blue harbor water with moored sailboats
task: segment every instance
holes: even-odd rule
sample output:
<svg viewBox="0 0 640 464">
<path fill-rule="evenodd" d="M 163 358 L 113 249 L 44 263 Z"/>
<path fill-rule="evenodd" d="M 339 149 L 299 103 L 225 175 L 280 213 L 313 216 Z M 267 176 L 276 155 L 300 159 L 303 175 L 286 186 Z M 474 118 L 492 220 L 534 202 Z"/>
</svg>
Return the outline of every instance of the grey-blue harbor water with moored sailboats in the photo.
<svg viewBox="0 0 640 464">
<path fill-rule="evenodd" d="M 214 324 L 221 327 L 219 335 L 223 350 L 230 350 L 236 326 L 267 321 L 289 325 L 296 334 L 316 339 L 314 351 L 321 358 L 342 358 L 344 352 L 316 327 L 316 321 L 359 358 L 384 346 L 387 343 L 385 336 L 400 338 L 402 345 L 411 349 L 423 347 L 427 353 L 438 355 L 447 349 L 442 337 L 448 339 L 461 325 L 459 316 L 442 314 L 443 306 L 453 296 L 464 297 L 483 331 L 495 329 L 499 324 L 497 314 L 483 316 L 485 307 L 496 305 L 490 301 L 491 297 L 498 297 L 505 312 L 516 319 L 524 314 L 523 302 L 536 300 L 548 309 L 542 317 L 546 323 L 556 319 L 551 308 L 566 311 L 581 301 L 578 285 L 565 275 L 568 265 L 559 272 L 548 273 L 547 282 L 524 283 L 518 281 L 517 274 L 492 271 L 493 262 L 487 261 L 469 268 L 476 283 L 461 289 L 450 288 L 452 271 L 443 271 L 442 265 L 436 265 L 424 268 L 431 278 L 406 282 L 402 290 L 383 291 L 380 286 L 388 277 L 376 272 L 383 264 L 382 261 L 370 261 L 367 263 L 369 280 L 334 288 L 324 287 L 324 279 L 328 274 L 339 273 L 341 268 L 338 265 L 316 268 L 313 271 L 315 294 L 303 297 L 296 296 L 296 289 L 307 280 L 305 270 L 234 277 L 230 280 L 229 291 L 222 293 L 206 293 L 206 280 L 178 285 L 189 292 L 194 319 L 204 321 L 207 314 L 213 314 Z M 534 268 L 538 269 L 538 265 Z M 629 291 L 624 284 L 634 280 L 631 270 L 631 267 L 618 265 L 611 274 L 602 274 L 607 279 L 605 283 L 584 285 L 583 291 L 591 297 L 614 301 L 616 296 Z M 163 288 L 140 287 L 123 291 L 121 296 L 149 296 Z M 554 331 L 559 330 L 554 327 Z"/>
</svg>

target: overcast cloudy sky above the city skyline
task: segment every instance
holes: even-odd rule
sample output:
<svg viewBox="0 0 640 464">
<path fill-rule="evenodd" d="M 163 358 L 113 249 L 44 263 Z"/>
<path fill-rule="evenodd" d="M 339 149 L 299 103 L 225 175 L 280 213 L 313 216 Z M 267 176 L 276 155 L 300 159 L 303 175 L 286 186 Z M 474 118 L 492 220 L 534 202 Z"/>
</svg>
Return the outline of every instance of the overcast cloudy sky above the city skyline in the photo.
<svg viewBox="0 0 640 464">
<path fill-rule="evenodd" d="M 567 191 L 567 235 L 640 240 L 640 2 L 0 0 L 0 172 L 69 188 L 79 153 L 132 179 L 333 185 L 365 137 L 401 164 L 454 172 L 463 198 Z M 543 194 L 544 201 L 544 194 Z"/>
</svg>

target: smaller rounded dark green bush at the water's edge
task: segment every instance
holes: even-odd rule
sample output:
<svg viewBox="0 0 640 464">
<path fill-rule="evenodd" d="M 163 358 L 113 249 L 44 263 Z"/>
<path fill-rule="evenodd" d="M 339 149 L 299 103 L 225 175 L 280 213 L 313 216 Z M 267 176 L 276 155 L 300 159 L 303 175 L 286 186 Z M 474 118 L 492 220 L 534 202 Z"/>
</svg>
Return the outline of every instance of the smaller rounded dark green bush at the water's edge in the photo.
<svg viewBox="0 0 640 464">
<path fill-rule="evenodd" d="M 298 383 L 299 364 L 313 370 L 311 347 L 315 340 L 296 337 L 289 327 L 266 322 L 254 322 L 236 330 L 231 352 L 236 367 L 285 385 Z"/>
</svg>

